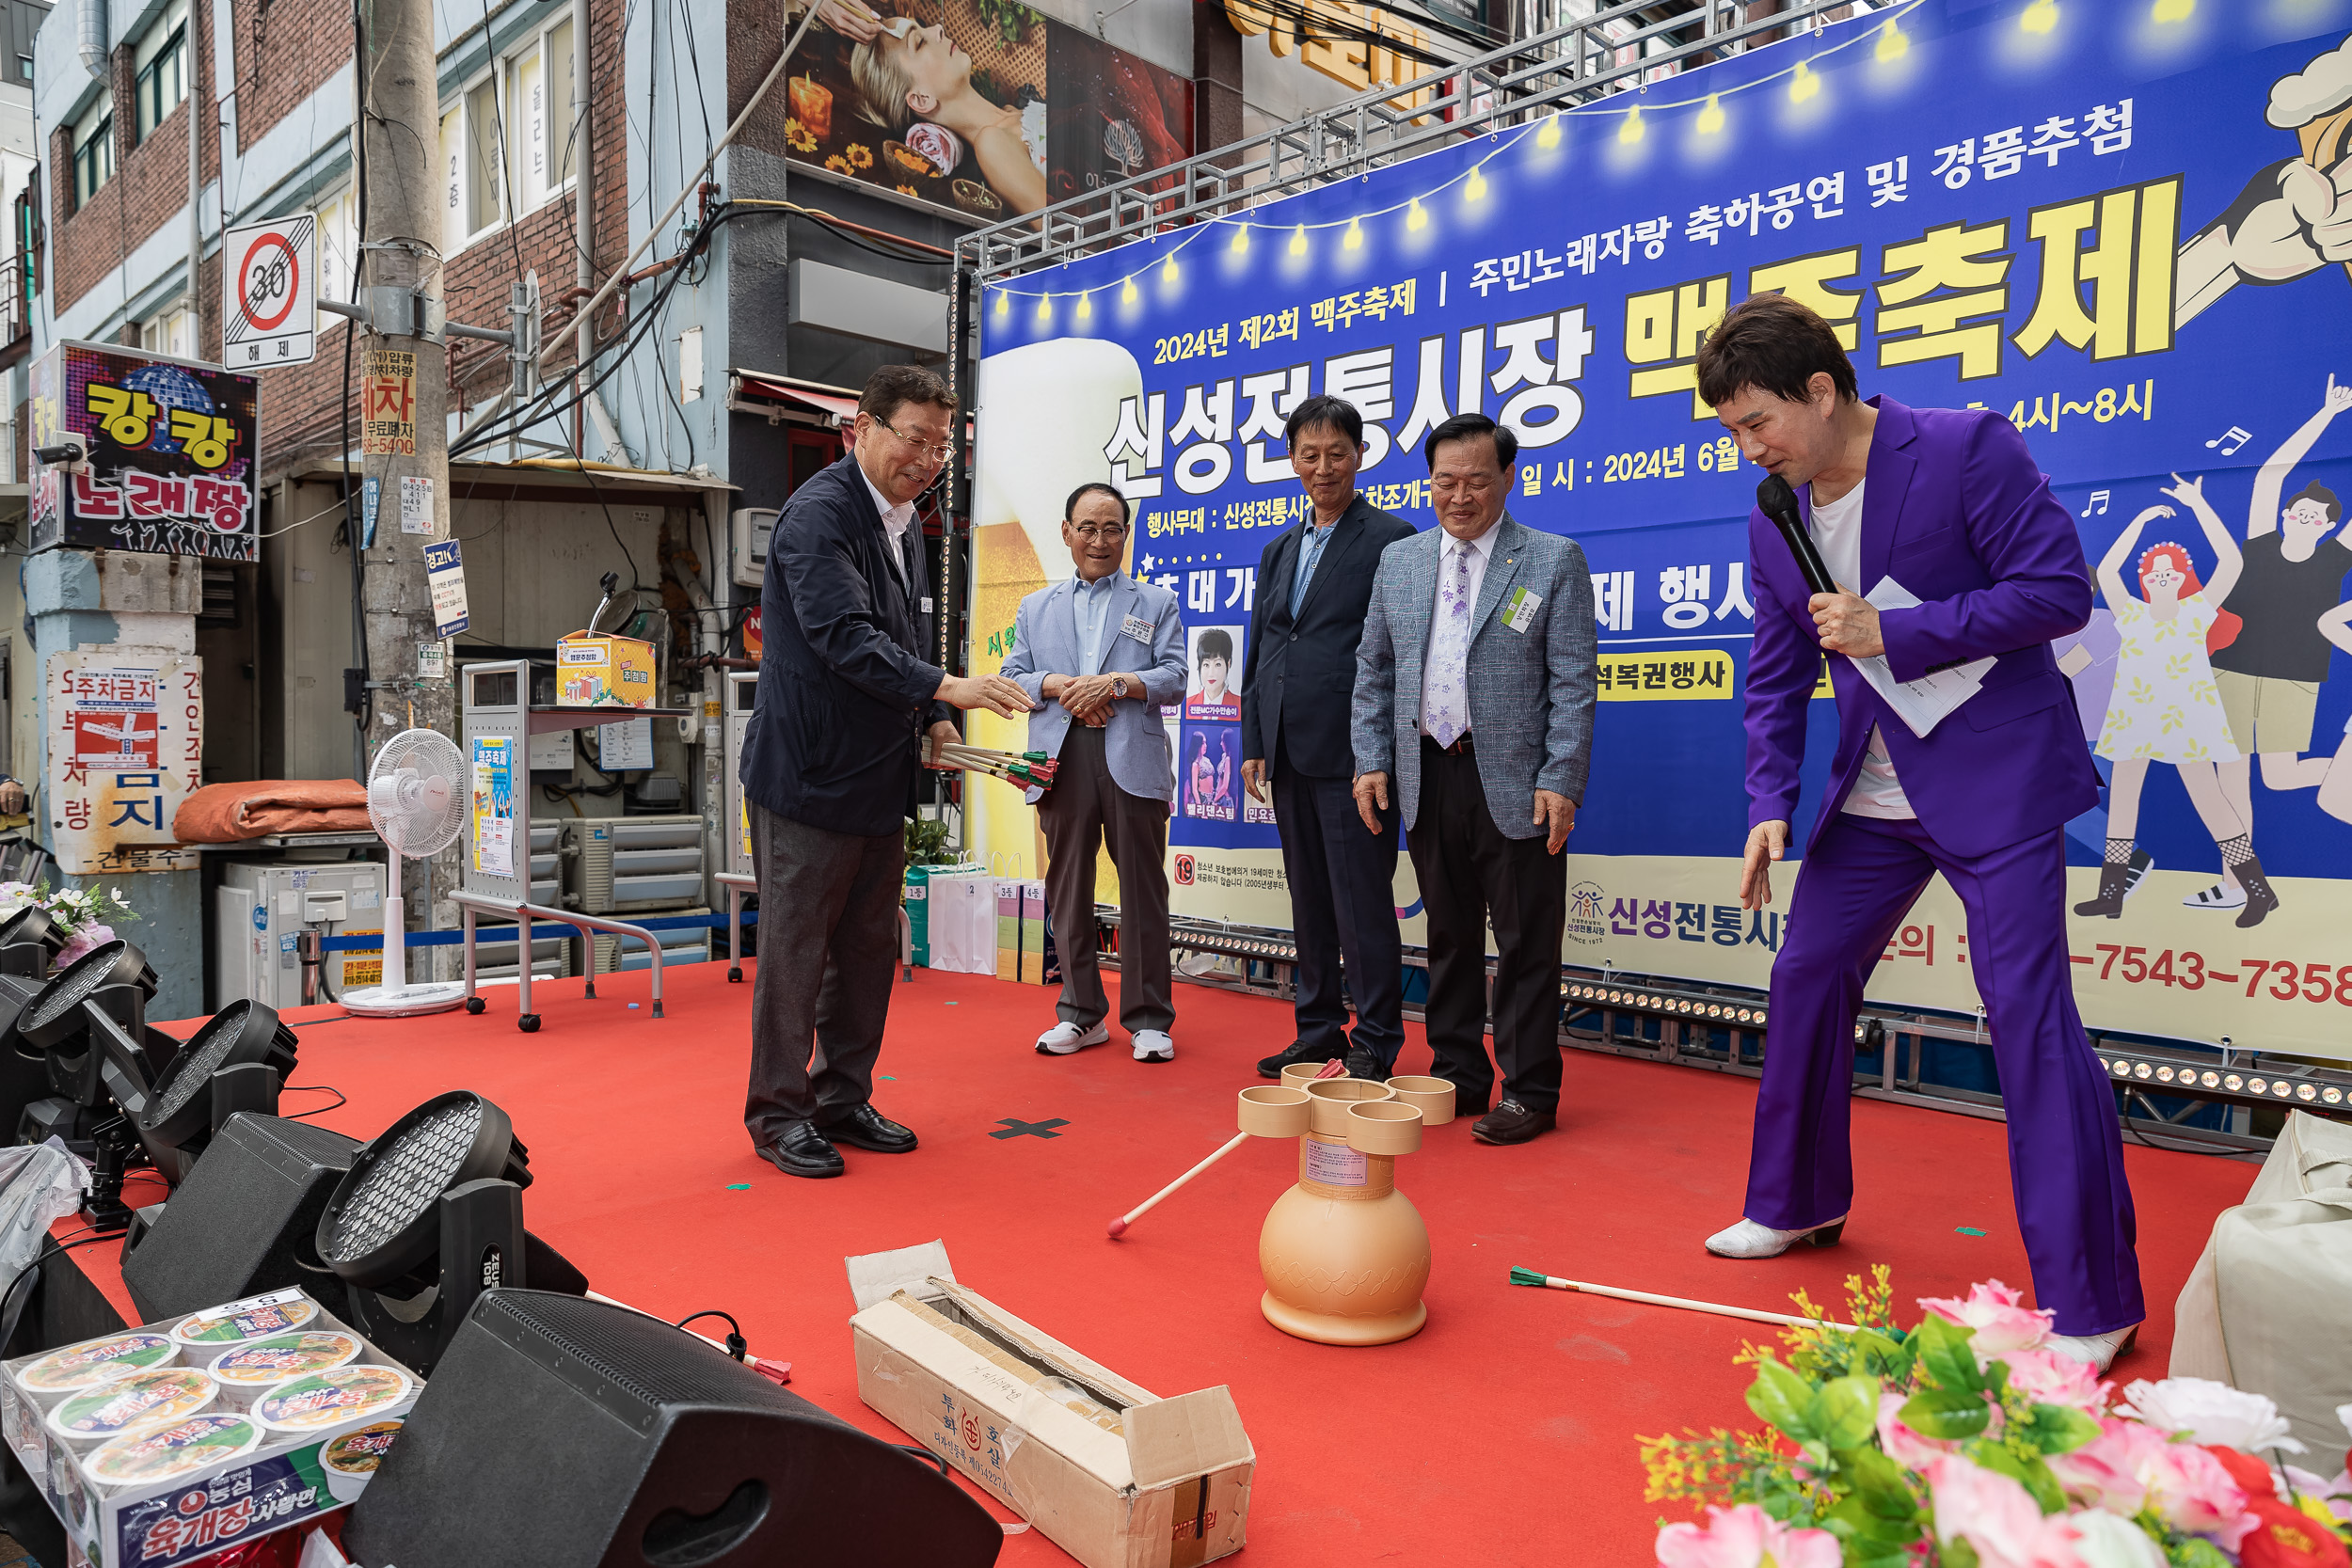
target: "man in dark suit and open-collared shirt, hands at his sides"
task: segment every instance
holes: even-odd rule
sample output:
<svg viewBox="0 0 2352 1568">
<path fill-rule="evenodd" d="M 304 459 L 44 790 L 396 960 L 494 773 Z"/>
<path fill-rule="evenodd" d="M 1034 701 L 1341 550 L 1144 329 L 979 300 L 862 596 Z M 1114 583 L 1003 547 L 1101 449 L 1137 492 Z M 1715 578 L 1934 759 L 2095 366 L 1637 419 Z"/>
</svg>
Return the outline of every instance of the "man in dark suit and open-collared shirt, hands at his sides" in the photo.
<svg viewBox="0 0 2352 1568">
<path fill-rule="evenodd" d="M 1355 489 L 1364 416 L 1343 397 L 1308 397 L 1284 425 L 1291 468 L 1312 510 L 1258 559 L 1242 675 L 1242 785 L 1272 790 L 1282 875 L 1298 940 L 1298 1039 L 1258 1063 L 1348 1058 L 1359 1079 L 1385 1079 L 1404 1046 L 1404 966 L 1397 938 L 1397 813 L 1367 835 L 1355 813 L 1348 701 L 1355 644 L 1381 550 L 1414 536 Z M 1355 999 L 1355 1039 L 1341 1001 L 1341 957 Z"/>
</svg>

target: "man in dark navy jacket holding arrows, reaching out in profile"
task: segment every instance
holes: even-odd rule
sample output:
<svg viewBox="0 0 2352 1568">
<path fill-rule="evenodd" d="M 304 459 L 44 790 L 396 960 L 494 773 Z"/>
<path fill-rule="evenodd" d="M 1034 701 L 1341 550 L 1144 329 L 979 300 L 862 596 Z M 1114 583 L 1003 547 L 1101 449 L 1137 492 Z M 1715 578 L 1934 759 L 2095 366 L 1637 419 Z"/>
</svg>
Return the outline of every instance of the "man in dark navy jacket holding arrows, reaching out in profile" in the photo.
<svg viewBox="0 0 2352 1568">
<path fill-rule="evenodd" d="M 884 364 L 849 456 L 793 491 L 769 543 L 767 649 L 743 736 L 762 917 L 743 1126 L 788 1175 L 840 1175 L 835 1143 L 915 1147 L 870 1095 L 924 724 L 936 745 L 955 738 L 957 708 L 1030 708 L 1009 679 L 948 675 L 920 654 L 931 599 L 915 498 L 953 430 L 955 393 L 938 376 Z"/>
</svg>

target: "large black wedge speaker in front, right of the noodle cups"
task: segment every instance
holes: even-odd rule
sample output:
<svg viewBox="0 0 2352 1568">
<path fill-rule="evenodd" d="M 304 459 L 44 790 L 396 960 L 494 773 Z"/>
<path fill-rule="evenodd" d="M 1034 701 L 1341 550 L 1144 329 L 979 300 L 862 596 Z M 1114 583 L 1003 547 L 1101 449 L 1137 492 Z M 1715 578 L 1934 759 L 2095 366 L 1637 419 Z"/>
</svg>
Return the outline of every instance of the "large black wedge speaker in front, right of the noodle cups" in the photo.
<svg viewBox="0 0 2352 1568">
<path fill-rule="evenodd" d="M 365 1568 L 981 1568 L 955 1481 L 661 1319 L 489 1291 L 350 1509 Z"/>
</svg>

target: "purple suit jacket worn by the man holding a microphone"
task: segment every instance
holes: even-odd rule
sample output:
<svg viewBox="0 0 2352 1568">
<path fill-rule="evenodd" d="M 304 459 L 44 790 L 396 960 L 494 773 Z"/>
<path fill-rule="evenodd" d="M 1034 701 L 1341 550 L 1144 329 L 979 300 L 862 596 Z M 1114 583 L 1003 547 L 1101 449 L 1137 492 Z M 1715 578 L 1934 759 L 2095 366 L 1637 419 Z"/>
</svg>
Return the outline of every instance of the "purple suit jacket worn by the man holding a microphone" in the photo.
<svg viewBox="0 0 2352 1568">
<path fill-rule="evenodd" d="M 1905 409 L 1872 397 L 1870 487 L 1863 494 L 1863 581 L 1893 576 L 1922 599 L 1879 616 L 1896 679 L 1997 654 L 1983 689 L 1919 738 L 1851 661 L 1830 656 L 1837 755 L 1806 839 L 1820 837 L 1863 764 L 1870 726 L 1919 825 L 1962 856 L 1983 856 L 2060 827 L 2098 804 L 2098 771 L 2051 639 L 2091 618 L 2074 520 L 2034 468 L 2025 437 L 1985 409 Z M 1797 491 L 1806 520 L 1811 487 Z M 1748 656 L 1748 825 L 1797 811 L 1804 715 L 1820 642 L 1804 578 L 1762 510 L 1748 517 L 1757 635 Z"/>
</svg>

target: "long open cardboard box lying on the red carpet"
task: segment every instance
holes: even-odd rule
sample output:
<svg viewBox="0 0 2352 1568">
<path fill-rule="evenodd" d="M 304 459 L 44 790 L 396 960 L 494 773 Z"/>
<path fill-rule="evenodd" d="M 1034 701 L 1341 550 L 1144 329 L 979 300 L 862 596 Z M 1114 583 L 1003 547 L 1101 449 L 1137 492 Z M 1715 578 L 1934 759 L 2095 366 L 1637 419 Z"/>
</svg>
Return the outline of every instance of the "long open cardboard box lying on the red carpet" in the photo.
<svg viewBox="0 0 2352 1568">
<path fill-rule="evenodd" d="M 1160 1399 L 955 1284 L 931 1241 L 849 1260 L 858 1399 L 1087 1568 L 1242 1549 L 1258 1455 L 1223 1387 Z"/>
</svg>

